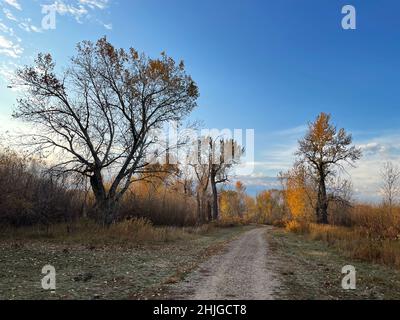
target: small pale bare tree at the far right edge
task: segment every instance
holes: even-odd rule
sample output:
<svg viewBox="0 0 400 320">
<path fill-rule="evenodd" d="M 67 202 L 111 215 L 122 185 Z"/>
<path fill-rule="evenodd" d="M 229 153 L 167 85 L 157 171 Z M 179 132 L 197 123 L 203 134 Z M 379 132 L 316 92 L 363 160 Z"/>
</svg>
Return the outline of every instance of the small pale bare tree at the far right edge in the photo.
<svg viewBox="0 0 400 320">
<path fill-rule="evenodd" d="M 384 198 L 384 204 L 389 208 L 389 214 L 392 214 L 393 205 L 396 203 L 400 193 L 400 169 L 392 162 L 386 162 L 381 170 L 383 180 L 381 192 Z"/>
</svg>

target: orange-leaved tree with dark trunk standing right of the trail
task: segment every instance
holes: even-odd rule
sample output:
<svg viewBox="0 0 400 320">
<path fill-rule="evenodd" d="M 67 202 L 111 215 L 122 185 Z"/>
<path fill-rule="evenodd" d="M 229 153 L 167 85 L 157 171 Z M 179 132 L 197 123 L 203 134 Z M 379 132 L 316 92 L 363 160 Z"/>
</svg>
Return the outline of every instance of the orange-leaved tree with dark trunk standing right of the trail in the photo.
<svg viewBox="0 0 400 320">
<path fill-rule="evenodd" d="M 319 223 L 328 223 L 327 179 L 344 164 L 354 166 L 361 158 L 361 150 L 352 146 L 352 136 L 331 124 L 331 116 L 321 113 L 310 123 L 306 136 L 299 141 L 296 155 L 311 168 L 317 181 L 316 215 Z"/>
</svg>

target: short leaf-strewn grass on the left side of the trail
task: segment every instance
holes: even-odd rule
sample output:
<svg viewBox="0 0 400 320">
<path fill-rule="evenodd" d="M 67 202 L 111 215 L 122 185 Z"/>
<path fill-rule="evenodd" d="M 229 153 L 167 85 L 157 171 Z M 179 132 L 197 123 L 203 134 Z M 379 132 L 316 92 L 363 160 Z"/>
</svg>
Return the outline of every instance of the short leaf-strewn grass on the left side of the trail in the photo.
<svg viewBox="0 0 400 320">
<path fill-rule="evenodd" d="M 157 297 L 205 257 L 249 227 L 183 232 L 163 242 L 101 245 L 38 239 L 0 241 L 0 299 L 141 299 Z M 57 290 L 41 288 L 42 267 L 53 265 Z"/>
</svg>

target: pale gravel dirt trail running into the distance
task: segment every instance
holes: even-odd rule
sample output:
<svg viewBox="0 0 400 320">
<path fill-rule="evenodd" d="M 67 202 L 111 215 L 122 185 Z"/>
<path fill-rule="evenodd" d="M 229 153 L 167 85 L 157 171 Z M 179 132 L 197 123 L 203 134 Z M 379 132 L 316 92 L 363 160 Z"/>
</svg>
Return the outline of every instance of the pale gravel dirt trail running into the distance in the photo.
<svg viewBox="0 0 400 320">
<path fill-rule="evenodd" d="M 265 233 L 257 228 L 232 241 L 225 252 L 210 258 L 183 282 L 174 285 L 174 299 L 272 300 L 279 289 Z"/>
</svg>

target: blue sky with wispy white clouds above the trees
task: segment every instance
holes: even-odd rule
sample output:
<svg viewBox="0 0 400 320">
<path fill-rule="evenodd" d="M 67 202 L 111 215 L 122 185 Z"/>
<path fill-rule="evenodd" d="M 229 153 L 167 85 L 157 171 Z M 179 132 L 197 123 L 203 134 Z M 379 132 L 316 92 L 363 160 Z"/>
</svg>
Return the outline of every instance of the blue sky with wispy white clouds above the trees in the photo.
<svg viewBox="0 0 400 320">
<path fill-rule="evenodd" d="M 42 5 L 57 4 L 55 30 Z M 341 28 L 344 5 L 357 29 Z M 208 128 L 255 129 L 249 190 L 274 184 L 293 161 L 305 125 L 321 112 L 353 133 L 364 158 L 349 173 L 356 195 L 376 199 L 379 167 L 400 158 L 400 2 L 396 0 L 0 0 L 0 121 L 15 93 L 7 77 L 50 51 L 65 65 L 81 40 L 185 60 Z"/>
</svg>

